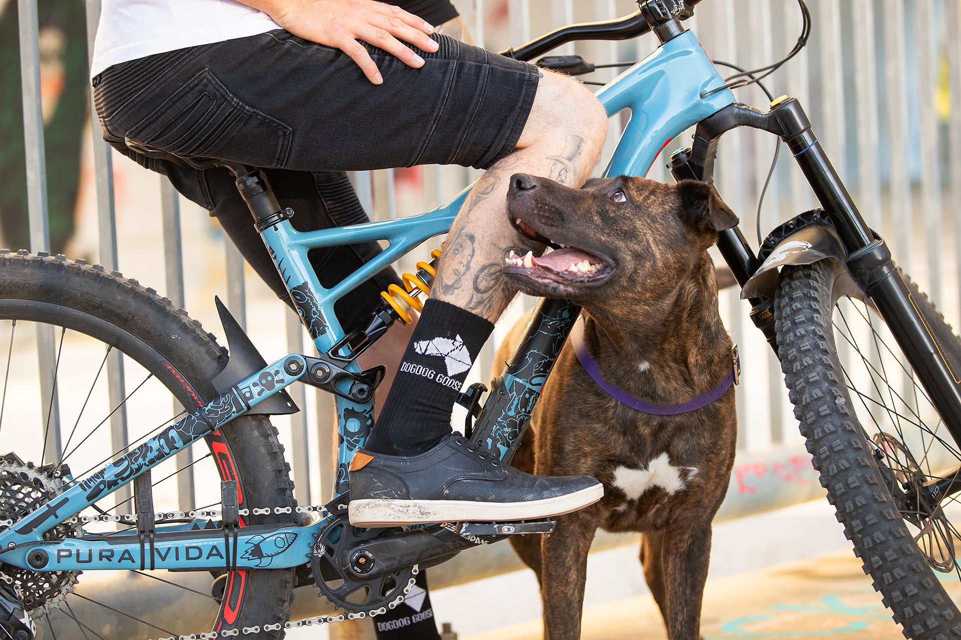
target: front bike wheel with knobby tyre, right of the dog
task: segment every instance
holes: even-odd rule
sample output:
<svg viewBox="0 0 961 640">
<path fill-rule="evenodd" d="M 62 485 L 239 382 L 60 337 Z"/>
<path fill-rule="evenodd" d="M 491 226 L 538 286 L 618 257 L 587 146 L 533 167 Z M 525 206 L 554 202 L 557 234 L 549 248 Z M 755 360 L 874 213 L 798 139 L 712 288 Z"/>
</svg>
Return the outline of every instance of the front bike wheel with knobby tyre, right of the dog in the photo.
<svg viewBox="0 0 961 640">
<path fill-rule="evenodd" d="M 961 462 L 948 429 L 884 321 L 834 292 L 832 261 L 786 267 L 776 294 L 781 369 L 827 499 L 904 635 L 961 638 L 949 597 L 961 590 L 955 496 L 924 499 L 925 482 Z M 946 356 L 961 341 L 907 277 Z M 946 588 L 947 587 L 947 588 Z"/>
</svg>

